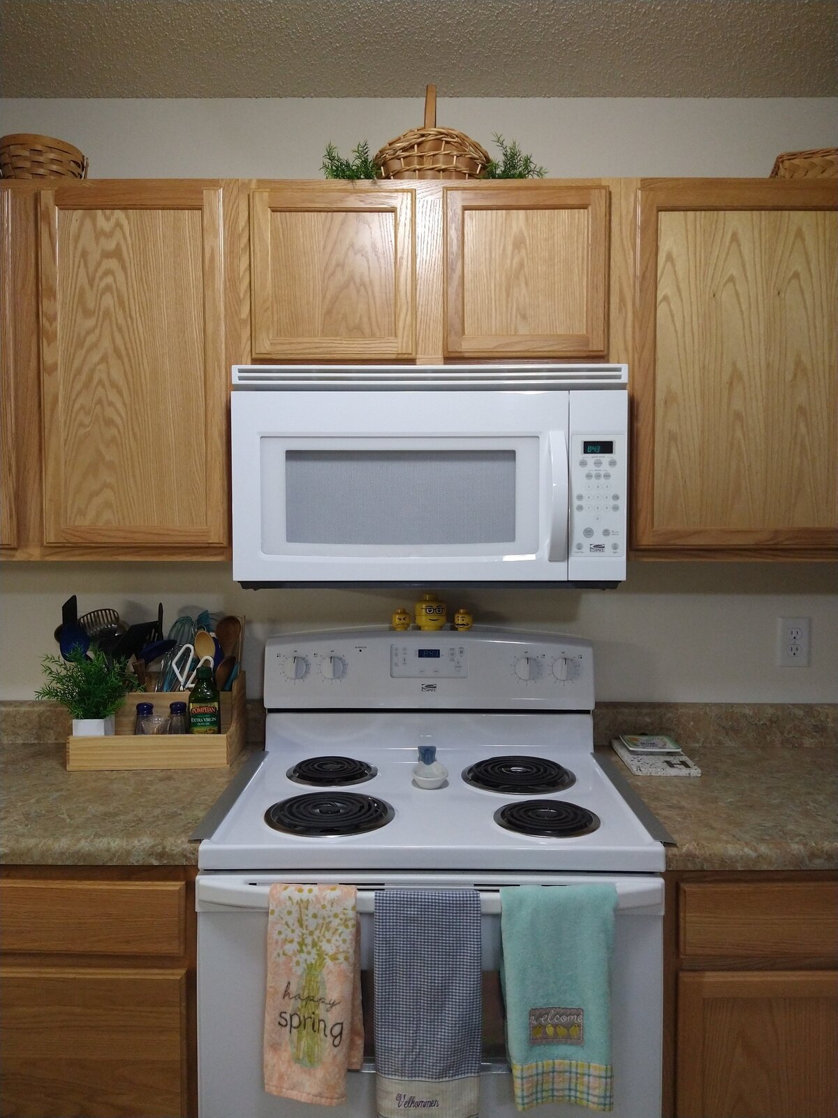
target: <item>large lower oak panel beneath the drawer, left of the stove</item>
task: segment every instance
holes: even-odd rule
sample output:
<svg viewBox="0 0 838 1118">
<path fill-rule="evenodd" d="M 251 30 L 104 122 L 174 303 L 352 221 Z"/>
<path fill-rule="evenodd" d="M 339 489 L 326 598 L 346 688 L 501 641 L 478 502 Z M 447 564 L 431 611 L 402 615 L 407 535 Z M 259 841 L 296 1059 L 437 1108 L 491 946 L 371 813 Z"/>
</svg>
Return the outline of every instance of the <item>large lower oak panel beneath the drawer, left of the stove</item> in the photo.
<svg viewBox="0 0 838 1118">
<path fill-rule="evenodd" d="M 0 974 L 2 1115 L 185 1114 L 185 972 Z"/>
</svg>

